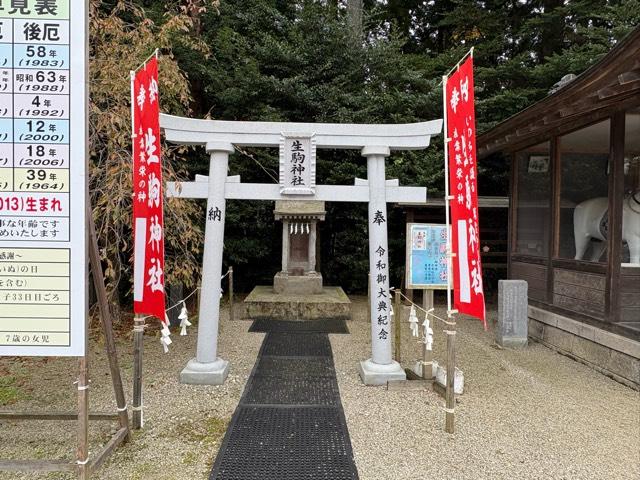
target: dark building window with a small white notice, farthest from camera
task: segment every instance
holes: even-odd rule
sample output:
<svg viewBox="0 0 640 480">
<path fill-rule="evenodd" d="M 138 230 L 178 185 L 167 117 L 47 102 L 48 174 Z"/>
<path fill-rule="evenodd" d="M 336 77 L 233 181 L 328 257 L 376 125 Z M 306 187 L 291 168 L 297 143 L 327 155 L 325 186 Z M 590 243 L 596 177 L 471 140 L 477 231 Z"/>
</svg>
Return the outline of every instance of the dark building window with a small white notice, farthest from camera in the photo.
<svg viewBox="0 0 640 480">
<path fill-rule="evenodd" d="M 516 253 L 537 256 L 547 256 L 549 253 L 550 158 L 549 142 L 516 154 Z"/>
</svg>

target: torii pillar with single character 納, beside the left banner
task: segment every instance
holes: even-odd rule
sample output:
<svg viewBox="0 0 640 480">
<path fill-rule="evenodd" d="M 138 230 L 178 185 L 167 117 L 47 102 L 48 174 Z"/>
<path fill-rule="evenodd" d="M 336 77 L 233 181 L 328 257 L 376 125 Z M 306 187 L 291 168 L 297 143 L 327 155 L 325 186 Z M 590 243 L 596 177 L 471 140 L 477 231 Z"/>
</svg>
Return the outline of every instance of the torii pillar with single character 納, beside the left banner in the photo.
<svg viewBox="0 0 640 480">
<path fill-rule="evenodd" d="M 222 245 L 224 244 L 224 216 L 226 210 L 225 183 L 230 143 L 207 143 L 209 158 L 209 189 L 207 194 L 202 284 L 196 357 L 189 360 L 180 372 L 182 383 L 222 385 L 229 374 L 229 362 L 218 357 L 218 323 L 222 275 Z M 209 298 L 211 296 L 213 301 Z"/>
</svg>

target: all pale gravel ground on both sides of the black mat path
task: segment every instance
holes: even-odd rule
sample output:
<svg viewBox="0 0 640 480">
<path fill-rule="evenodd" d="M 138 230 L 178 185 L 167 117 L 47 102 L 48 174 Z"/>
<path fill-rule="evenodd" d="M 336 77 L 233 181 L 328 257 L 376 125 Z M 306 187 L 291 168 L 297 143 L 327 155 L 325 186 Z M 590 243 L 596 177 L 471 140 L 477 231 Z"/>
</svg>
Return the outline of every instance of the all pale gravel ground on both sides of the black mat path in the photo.
<svg viewBox="0 0 640 480">
<path fill-rule="evenodd" d="M 351 335 L 330 338 L 361 480 L 640 478 L 638 392 L 539 344 L 497 349 L 480 322 L 462 319 L 457 346 L 465 393 L 456 409 L 456 433 L 448 435 L 444 402 L 435 393 L 360 383 L 358 362 L 370 356 L 364 299 L 355 299 L 354 313 Z M 195 329 L 187 337 L 174 335 L 167 355 L 153 334 L 146 335 L 145 428 L 93 478 L 206 479 L 262 342 L 263 334 L 247 333 L 249 326 L 231 323 L 223 310 L 220 354 L 232 368 L 227 382 L 214 388 L 177 381 L 195 352 Z M 434 330 L 435 357 L 443 363 L 444 335 Z M 99 340 L 91 342 L 91 408 L 114 411 L 103 350 Z M 119 354 L 130 397 L 131 339 L 119 340 Z M 402 354 L 405 366 L 420 356 L 406 325 Z M 0 358 L 0 405 L 12 411 L 73 410 L 75 375 L 71 359 Z M 2 422 L 0 457 L 72 458 L 74 426 Z M 92 453 L 113 428 L 92 423 Z M 0 473 L 2 480 L 27 478 L 74 477 Z"/>
</svg>

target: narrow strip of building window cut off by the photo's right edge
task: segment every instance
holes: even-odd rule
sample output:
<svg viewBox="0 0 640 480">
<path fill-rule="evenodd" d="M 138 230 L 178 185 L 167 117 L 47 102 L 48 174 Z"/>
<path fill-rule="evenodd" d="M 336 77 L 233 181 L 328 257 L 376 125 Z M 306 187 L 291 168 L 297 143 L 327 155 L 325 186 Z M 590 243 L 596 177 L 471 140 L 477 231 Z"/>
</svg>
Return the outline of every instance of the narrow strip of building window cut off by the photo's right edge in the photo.
<svg viewBox="0 0 640 480">
<path fill-rule="evenodd" d="M 640 266 L 640 109 L 627 112 L 624 132 L 622 265 Z"/>
</svg>

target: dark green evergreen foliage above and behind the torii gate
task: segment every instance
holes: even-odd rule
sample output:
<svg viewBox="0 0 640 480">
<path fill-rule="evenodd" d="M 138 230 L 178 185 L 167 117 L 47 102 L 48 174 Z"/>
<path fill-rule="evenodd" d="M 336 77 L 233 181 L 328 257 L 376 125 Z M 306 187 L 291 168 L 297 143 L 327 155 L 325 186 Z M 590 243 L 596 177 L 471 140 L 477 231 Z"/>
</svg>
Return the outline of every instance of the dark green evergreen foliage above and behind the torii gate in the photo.
<svg viewBox="0 0 640 480">
<path fill-rule="evenodd" d="M 345 1 L 222 0 L 199 18 L 211 55 L 173 50 L 188 74 L 195 116 L 225 120 L 414 122 L 440 118 L 442 75 L 475 47 L 477 118 L 483 131 L 581 73 L 640 21 L 640 0 L 365 0 L 364 41 L 353 41 Z M 145 0 L 162 12 L 165 4 Z M 154 16 L 154 18 L 156 18 Z M 193 173 L 206 173 L 198 155 Z M 358 152 L 319 151 L 318 183 L 366 178 Z M 442 196 L 442 139 L 394 153 L 388 178 Z M 230 175 L 274 182 L 277 152 L 234 154 Z M 504 159 L 480 165 L 480 194 L 504 195 Z M 347 291 L 366 288 L 366 205 L 327 204 L 322 273 Z M 394 278 L 404 266 L 404 224 L 389 211 Z M 280 265 L 281 227 L 269 202 L 229 202 L 225 262 L 241 289 L 270 283 Z"/>
</svg>

